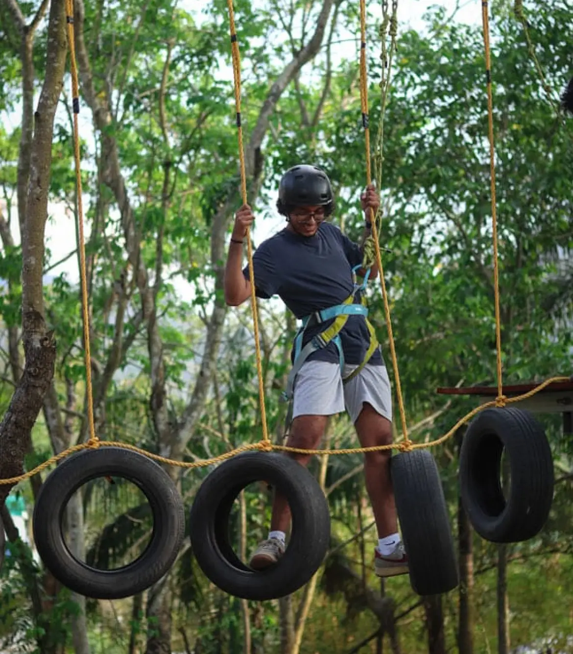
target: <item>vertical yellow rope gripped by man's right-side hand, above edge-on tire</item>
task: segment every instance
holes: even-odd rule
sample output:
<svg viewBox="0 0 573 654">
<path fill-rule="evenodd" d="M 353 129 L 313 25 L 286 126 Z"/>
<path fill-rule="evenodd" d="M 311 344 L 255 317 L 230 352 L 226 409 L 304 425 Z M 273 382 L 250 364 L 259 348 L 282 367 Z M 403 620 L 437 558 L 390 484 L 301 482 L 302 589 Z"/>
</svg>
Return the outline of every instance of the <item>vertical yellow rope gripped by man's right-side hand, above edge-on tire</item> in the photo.
<svg viewBox="0 0 573 654">
<path fill-rule="evenodd" d="M 366 70 L 366 2 L 360 0 L 360 105 L 362 107 L 362 126 L 364 126 L 364 147 L 366 150 L 366 184 L 372 182 L 372 168 L 370 165 L 370 129 L 368 127 L 368 71 Z M 382 108 L 381 108 L 382 109 Z M 402 397 L 402 385 L 400 384 L 400 372 L 398 371 L 398 358 L 396 356 L 396 347 L 394 345 L 394 334 L 392 334 L 392 320 L 390 317 L 390 305 L 384 280 L 384 267 L 382 266 L 382 257 L 380 254 L 380 244 L 378 242 L 378 228 L 375 216 L 370 209 L 370 220 L 372 222 L 372 239 L 376 253 L 376 263 L 378 266 L 380 286 L 382 288 L 382 298 L 384 301 L 384 313 L 386 326 L 388 330 L 388 339 L 390 343 L 390 353 L 392 357 L 392 368 L 394 369 L 394 381 L 396 383 L 396 396 L 398 398 L 398 409 L 400 410 L 400 421 L 402 422 L 402 434 L 404 435 L 404 444 L 406 447 L 411 445 L 408 438 L 408 425 L 406 424 L 406 409 L 404 408 L 404 398 Z"/>
</svg>

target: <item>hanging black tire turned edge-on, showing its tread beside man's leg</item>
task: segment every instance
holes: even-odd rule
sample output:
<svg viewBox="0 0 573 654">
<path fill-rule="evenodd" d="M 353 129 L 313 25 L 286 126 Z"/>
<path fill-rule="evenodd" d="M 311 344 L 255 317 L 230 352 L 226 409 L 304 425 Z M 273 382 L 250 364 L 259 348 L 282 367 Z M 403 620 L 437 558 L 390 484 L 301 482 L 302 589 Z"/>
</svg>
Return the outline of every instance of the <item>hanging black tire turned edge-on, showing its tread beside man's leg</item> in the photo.
<svg viewBox="0 0 573 654">
<path fill-rule="evenodd" d="M 447 593 L 459 584 L 459 575 L 434 457 L 423 449 L 397 454 L 391 474 L 411 587 L 419 595 Z"/>
</svg>

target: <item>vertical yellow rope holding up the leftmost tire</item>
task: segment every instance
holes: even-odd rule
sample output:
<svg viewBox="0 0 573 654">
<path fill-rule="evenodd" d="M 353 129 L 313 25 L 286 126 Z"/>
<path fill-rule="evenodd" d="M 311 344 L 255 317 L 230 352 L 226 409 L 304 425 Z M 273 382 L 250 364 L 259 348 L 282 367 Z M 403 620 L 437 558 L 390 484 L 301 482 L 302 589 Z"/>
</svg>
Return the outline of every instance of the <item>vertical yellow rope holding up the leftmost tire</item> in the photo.
<svg viewBox="0 0 573 654">
<path fill-rule="evenodd" d="M 88 399 L 88 426 L 90 438 L 88 445 L 96 446 L 99 438 L 96 436 L 96 426 L 94 423 L 94 397 L 92 390 L 92 356 L 90 354 L 90 312 L 88 310 L 88 283 L 86 275 L 86 249 L 84 239 L 84 208 L 82 203 L 82 171 L 80 160 L 80 129 L 78 125 L 78 114 L 80 112 L 78 69 L 76 63 L 76 52 L 74 42 L 74 9 L 73 0 L 66 0 L 66 23 L 67 36 L 69 41 L 70 52 L 70 69 L 72 84 L 72 102 L 73 102 L 73 120 L 74 120 L 74 162 L 76 169 L 76 188 L 78 196 L 78 225 L 79 239 L 78 247 L 80 249 L 80 280 L 82 286 L 82 318 L 84 323 L 84 361 L 86 366 L 86 394 Z"/>
</svg>

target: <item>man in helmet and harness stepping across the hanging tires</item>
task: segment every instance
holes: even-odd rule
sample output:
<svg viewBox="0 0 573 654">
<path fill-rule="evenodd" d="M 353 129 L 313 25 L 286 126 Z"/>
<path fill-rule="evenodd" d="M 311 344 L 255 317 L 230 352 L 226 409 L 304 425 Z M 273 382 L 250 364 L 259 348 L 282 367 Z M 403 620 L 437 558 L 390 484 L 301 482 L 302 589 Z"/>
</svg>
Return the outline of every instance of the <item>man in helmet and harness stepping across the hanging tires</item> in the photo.
<svg viewBox="0 0 573 654">
<path fill-rule="evenodd" d="M 370 216 L 379 196 L 371 184 L 361 198 L 366 224 L 362 243 L 370 235 Z M 377 266 L 362 267 L 363 245 L 353 243 L 326 218 L 334 211 L 332 186 L 313 165 L 290 168 L 279 186 L 279 213 L 287 227 L 258 247 L 253 256 L 254 283 L 259 298 L 278 295 L 302 320 L 292 351 L 293 367 L 285 395 L 290 400 L 287 445 L 317 449 L 328 416 L 348 412 L 362 447 L 392 441 L 392 395 L 385 362 L 362 292 L 376 277 Z M 373 213 L 370 213 L 372 209 Z M 238 306 L 251 297 L 249 267 L 243 269 L 242 243 L 254 220 L 251 207 L 235 215 L 225 271 L 225 299 Z M 356 277 L 364 278 L 357 284 Z M 292 454 L 306 466 L 309 455 Z M 375 573 L 389 577 L 408 572 L 408 559 L 398 534 L 390 477 L 391 451 L 364 455 L 366 490 L 378 529 Z M 290 509 L 275 494 L 271 530 L 257 547 L 249 565 L 262 570 L 285 552 Z"/>
</svg>

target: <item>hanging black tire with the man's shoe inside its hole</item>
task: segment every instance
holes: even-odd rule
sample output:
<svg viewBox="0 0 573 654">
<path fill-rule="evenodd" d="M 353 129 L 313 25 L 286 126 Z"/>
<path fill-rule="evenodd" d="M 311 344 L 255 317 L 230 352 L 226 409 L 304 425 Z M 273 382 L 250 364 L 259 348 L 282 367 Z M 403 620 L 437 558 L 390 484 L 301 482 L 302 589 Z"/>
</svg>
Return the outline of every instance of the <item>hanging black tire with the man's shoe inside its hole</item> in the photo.
<svg viewBox="0 0 573 654">
<path fill-rule="evenodd" d="M 234 500 L 256 481 L 280 490 L 292 514 L 285 554 L 260 571 L 237 557 L 229 537 Z M 276 599 L 304 586 L 321 566 L 330 542 L 328 502 L 311 473 L 288 456 L 245 453 L 205 478 L 190 511 L 189 533 L 201 570 L 222 591 L 247 600 Z"/>
</svg>

